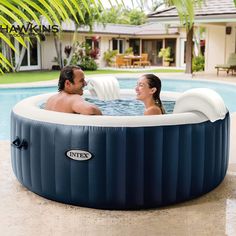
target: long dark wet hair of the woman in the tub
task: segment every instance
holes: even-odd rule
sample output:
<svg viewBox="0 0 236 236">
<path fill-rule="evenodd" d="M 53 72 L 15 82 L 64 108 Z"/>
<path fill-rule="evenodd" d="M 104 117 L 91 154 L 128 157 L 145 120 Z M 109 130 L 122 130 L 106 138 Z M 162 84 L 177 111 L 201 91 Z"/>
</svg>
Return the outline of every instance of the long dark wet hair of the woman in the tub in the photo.
<svg viewBox="0 0 236 236">
<path fill-rule="evenodd" d="M 153 94 L 153 99 L 155 100 L 157 106 L 160 107 L 162 114 L 164 114 L 165 109 L 160 99 L 161 80 L 154 74 L 145 74 L 143 77 L 147 79 L 149 88 L 156 88 L 156 92 Z"/>
</svg>

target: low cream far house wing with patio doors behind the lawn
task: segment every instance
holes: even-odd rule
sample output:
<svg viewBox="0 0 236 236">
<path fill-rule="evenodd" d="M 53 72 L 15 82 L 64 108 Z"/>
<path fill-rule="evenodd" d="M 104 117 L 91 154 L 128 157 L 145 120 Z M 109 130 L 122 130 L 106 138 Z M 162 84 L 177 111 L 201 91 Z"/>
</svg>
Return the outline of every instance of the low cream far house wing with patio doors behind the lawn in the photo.
<svg viewBox="0 0 236 236">
<path fill-rule="evenodd" d="M 45 23 L 44 23 L 45 24 Z M 46 25 L 46 24 L 45 24 Z M 63 23 L 62 31 L 59 33 L 62 45 L 62 56 L 65 59 L 64 49 L 73 43 L 75 26 L 73 22 Z M 122 24 L 95 24 L 93 32 L 89 27 L 80 27 L 77 29 L 76 39 L 79 42 L 86 42 L 92 48 L 99 48 L 99 58 L 97 63 L 100 67 L 105 66 L 103 54 L 107 50 L 118 50 L 120 54 L 124 53 L 128 47 L 132 47 L 134 54 L 148 53 L 148 60 L 152 65 L 162 65 L 162 58 L 158 57 L 158 52 L 162 47 L 170 46 L 174 61 L 172 66 L 179 64 L 177 44 L 180 33 L 177 27 L 168 28 L 165 24 L 147 23 L 140 26 L 122 25 Z M 98 41 L 94 44 L 93 38 Z M 20 45 L 16 41 L 16 48 L 19 50 Z M 22 61 L 20 70 L 51 69 L 55 64 L 56 49 L 54 36 L 46 33 L 43 40 L 38 43 L 32 40 L 28 43 L 28 50 Z M 16 55 L 16 63 L 19 56 Z"/>
</svg>

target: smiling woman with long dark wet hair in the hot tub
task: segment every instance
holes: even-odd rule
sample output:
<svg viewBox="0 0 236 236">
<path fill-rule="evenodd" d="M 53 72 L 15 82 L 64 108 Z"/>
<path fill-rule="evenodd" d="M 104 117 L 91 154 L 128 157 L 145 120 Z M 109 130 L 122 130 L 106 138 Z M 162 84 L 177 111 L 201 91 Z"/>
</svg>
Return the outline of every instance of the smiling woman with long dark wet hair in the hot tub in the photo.
<svg viewBox="0 0 236 236">
<path fill-rule="evenodd" d="M 144 115 L 160 115 L 165 113 L 160 99 L 161 80 L 154 74 L 141 76 L 135 87 L 137 99 L 145 105 Z"/>
</svg>

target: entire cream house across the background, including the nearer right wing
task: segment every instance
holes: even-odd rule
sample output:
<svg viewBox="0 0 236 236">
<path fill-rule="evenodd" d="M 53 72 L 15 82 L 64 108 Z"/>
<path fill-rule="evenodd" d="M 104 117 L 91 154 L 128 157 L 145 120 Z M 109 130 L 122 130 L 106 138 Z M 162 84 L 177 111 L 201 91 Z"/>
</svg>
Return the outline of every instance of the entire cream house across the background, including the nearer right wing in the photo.
<svg viewBox="0 0 236 236">
<path fill-rule="evenodd" d="M 149 22 L 144 25 L 95 24 L 91 33 L 88 27 L 77 29 L 76 40 L 86 42 L 92 48 L 99 48 L 99 67 L 104 67 L 103 54 L 107 50 L 117 49 L 124 53 L 132 47 L 134 54 L 148 53 L 148 60 L 152 65 L 162 66 L 162 58 L 158 52 L 163 47 L 171 47 L 171 66 L 185 68 L 186 30 L 180 24 L 175 7 L 170 7 L 148 15 Z M 43 22 L 42 24 L 47 24 Z M 202 8 L 195 10 L 194 28 L 203 27 L 205 34 L 201 44 L 201 51 L 205 57 L 205 71 L 215 72 L 216 64 L 224 64 L 230 53 L 236 48 L 236 7 L 233 0 L 206 0 Z M 66 59 L 64 49 L 73 43 L 75 25 L 73 22 L 62 24 L 59 33 L 62 44 L 62 57 Z M 93 38 L 98 39 L 96 43 Z M 15 46 L 21 49 L 18 41 Z M 4 47 L 3 47 L 4 53 Z M 55 65 L 57 56 L 54 37 L 46 33 L 43 41 L 32 40 L 28 43 L 28 50 L 23 58 L 20 70 L 51 69 Z M 19 55 L 15 56 L 15 62 Z"/>
</svg>

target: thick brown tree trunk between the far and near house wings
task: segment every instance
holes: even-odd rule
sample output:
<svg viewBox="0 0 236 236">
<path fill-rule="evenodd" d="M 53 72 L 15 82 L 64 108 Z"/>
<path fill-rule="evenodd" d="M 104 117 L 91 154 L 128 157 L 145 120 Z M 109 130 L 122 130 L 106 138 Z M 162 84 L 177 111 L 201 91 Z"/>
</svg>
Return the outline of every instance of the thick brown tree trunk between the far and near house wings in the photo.
<svg viewBox="0 0 236 236">
<path fill-rule="evenodd" d="M 186 70 L 185 73 L 192 74 L 192 60 L 193 60 L 193 26 L 187 31 L 186 42 Z"/>
</svg>

